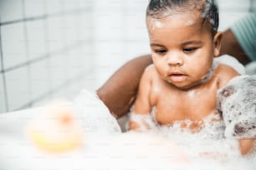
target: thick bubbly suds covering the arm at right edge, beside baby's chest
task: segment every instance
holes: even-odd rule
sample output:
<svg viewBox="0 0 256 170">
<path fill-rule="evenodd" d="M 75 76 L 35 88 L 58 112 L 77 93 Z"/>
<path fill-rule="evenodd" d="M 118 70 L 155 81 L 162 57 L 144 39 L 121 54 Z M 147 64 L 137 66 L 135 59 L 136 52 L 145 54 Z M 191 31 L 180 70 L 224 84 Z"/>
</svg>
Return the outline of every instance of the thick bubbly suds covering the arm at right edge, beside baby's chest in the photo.
<svg viewBox="0 0 256 170">
<path fill-rule="evenodd" d="M 256 138 L 256 76 L 234 77 L 218 90 L 217 99 L 226 125 L 225 135 Z"/>
</svg>

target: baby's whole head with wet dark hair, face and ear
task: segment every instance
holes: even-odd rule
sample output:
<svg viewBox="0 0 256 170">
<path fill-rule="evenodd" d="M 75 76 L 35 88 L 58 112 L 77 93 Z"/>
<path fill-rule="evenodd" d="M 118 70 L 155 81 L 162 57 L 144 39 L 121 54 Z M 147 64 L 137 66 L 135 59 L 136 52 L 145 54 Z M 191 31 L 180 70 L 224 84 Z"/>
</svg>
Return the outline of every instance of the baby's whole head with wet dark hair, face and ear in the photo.
<svg viewBox="0 0 256 170">
<path fill-rule="evenodd" d="M 151 0 L 146 26 L 151 57 L 162 79 L 185 89 L 212 77 L 222 37 L 213 0 Z"/>
</svg>

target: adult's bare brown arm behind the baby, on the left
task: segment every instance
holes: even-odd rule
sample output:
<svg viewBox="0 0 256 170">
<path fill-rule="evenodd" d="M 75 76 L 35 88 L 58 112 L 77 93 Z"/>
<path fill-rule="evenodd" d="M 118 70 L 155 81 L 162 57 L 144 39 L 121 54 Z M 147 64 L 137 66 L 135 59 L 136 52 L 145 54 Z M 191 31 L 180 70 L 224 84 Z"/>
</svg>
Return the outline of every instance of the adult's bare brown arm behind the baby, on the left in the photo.
<svg viewBox="0 0 256 170">
<path fill-rule="evenodd" d="M 115 117 L 121 117 L 129 112 L 136 98 L 142 72 L 151 63 L 150 55 L 136 57 L 120 67 L 97 90 L 98 96 Z"/>
</svg>

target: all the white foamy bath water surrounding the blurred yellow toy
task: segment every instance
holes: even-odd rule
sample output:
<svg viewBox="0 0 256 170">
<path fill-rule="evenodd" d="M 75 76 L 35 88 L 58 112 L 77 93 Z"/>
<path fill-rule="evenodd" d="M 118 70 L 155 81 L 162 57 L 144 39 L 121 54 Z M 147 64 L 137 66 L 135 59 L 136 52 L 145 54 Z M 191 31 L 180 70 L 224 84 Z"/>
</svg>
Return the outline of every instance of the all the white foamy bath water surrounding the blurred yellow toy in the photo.
<svg viewBox="0 0 256 170">
<path fill-rule="evenodd" d="M 76 104 L 70 104 L 76 111 L 74 117 L 84 124 L 80 148 L 56 154 L 40 150 L 28 138 L 26 126 L 45 109 L 13 112 L 0 119 L 0 169 L 256 169 L 255 152 L 240 156 L 238 141 L 224 137 L 223 122 L 210 121 L 216 115 L 207 117 L 198 132 L 180 128 L 182 122 L 177 122 L 145 132 L 120 133 L 102 102 L 88 92 L 83 94 Z M 85 105 L 85 101 L 90 102 Z M 96 119 L 99 116 L 102 118 Z"/>
</svg>

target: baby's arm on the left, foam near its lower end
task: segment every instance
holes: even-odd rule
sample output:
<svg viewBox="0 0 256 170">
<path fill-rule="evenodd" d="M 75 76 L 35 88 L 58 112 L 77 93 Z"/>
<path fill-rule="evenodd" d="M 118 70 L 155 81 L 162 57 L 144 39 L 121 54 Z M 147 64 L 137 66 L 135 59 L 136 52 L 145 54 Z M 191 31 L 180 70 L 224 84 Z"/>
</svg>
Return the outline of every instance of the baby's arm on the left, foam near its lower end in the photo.
<svg viewBox="0 0 256 170">
<path fill-rule="evenodd" d="M 128 129 L 151 128 L 151 74 L 150 67 L 146 67 L 142 74 L 138 96 L 128 122 Z"/>
</svg>

